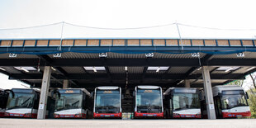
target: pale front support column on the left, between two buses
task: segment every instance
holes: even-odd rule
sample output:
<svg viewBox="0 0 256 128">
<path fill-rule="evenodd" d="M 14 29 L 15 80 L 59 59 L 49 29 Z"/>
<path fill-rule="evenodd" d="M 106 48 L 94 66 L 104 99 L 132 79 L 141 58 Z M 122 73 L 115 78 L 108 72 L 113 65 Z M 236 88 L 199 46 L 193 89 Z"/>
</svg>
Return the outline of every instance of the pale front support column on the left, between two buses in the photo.
<svg viewBox="0 0 256 128">
<path fill-rule="evenodd" d="M 51 67 L 45 66 L 41 90 L 40 90 L 40 102 L 39 102 L 37 119 L 45 119 L 47 97 L 48 97 L 48 92 L 50 87 L 50 73 L 51 73 Z"/>
</svg>

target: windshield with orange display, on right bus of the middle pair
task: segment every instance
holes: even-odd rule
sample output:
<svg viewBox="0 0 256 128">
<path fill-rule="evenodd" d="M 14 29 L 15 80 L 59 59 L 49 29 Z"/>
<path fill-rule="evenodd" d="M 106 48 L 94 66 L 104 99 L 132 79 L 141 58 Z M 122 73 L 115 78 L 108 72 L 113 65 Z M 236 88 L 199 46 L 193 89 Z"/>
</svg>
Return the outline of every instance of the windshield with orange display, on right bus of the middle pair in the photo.
<svg viewBox="0 0 256 128">
<path fill-rule="evenodd" d="M 139 112 L 161 112 L 162 99 L 160 90 L 138 89 L 136 106 Z"/>
</svg>

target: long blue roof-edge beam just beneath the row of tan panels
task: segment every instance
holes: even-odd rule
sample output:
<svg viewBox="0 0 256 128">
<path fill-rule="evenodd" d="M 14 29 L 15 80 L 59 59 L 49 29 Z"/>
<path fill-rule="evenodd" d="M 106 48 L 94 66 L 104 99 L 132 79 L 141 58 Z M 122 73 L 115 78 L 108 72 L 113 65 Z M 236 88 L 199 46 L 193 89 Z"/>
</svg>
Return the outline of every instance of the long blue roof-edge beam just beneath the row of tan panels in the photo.
<svg viewBox="0 0 256 128">
<path fill-rule="evenodd" d="M 9 47 L 9 53 L 27 53 L 27 54 L 37 54 L 37 55 L 44 55 L 53 52 L 59 52 L 59 46 L 40 46 L 40 47 Z M 156 51 L 164 51 L 164 52 L 180 52 L 183 53 L 184 51 L 244 51 L 243 46 L 190 46 L 190 47 L 183 47 L 183 51 L 180 50 L 178 46 L 113 46 L 111 49 L 109 47 L 104 46 L 62 46 L 62 52 L 86 52 L 86 53 L 102 53 L 102 52 L 156 52 Z M 256 48 L 254 46 L 246 47 L 247 51 L 255 51 Z M 5 53 L 7 52 L 6 47 L 0 47 L 0 52 Z M 36 52 L 36 53 L 35 53 Z"/>
</svg>

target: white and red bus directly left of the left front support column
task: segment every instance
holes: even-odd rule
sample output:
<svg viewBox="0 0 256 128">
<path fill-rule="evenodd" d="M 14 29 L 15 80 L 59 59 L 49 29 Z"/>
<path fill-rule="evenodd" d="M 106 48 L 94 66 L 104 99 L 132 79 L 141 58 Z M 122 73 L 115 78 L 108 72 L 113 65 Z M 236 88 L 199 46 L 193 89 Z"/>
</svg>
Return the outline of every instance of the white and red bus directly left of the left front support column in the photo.
<svg viewBox="0 0 256 128">
<path fill-rule="evenodd" d="M 9 92 L 9 95 L 5 117 L 37 117 L 40 92 L 23 88 L 12 88 L 7 92 Z"/>
</svg>

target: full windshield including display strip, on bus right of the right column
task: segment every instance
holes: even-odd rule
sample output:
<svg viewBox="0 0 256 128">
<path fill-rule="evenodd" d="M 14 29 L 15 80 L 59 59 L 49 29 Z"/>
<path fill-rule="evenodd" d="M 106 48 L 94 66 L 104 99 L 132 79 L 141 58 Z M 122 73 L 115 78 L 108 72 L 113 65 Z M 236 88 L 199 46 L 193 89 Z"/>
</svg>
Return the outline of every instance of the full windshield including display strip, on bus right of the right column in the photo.
<svg viewBox="0 0 256 128">
<path fill-rule="evenodd" d="M 221 97 L 223 109 L 248 106 L 244 91 L 225 91 Z"/>
</svg>

